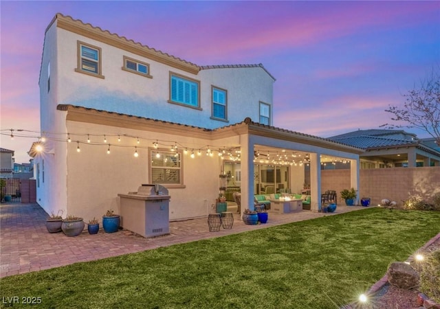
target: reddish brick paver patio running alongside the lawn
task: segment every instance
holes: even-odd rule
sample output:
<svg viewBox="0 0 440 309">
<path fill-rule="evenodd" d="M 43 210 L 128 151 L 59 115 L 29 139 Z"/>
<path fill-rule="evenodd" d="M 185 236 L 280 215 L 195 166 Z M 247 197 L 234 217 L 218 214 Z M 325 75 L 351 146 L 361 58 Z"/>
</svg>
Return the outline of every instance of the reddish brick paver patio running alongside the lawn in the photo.
<svg viewBox="0 0 440 309">
<path fill-rule="evenodd" d="M 172 244 L 241 233 L 253 229 L 273 227 L 288 222 L 333 216 L 363 207 L 338 205 L 336 213 L 322 214 L 307 210 L 290 214 L 270 212 L 265 225 L 245 225 L 234 214 L 232 229 L 210 232 L 207 218 L 170 222 L 170 234 L 143 238 L 130 231 L 89 235 L 87 229 L 76 237 L 49 233 L 45 227 L 46 212 L 37 204 L 3 203 L 0 205 L 0 277 L 41 271 L 47 268 L 99 260 L 112 256 L 145 251 Z"/>
</svg>

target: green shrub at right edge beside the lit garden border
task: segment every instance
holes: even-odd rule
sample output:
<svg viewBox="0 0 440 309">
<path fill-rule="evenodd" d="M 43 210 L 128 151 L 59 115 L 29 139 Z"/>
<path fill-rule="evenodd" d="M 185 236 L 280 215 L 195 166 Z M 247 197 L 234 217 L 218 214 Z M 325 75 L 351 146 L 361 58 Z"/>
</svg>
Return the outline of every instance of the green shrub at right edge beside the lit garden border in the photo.
<svg viewBox="0 0 440 309">
<path fill-rule="evenodd" d="M 440 303 L 440 248 L 429 253 L 423 260 L 420 291 Z"/>
</svg>

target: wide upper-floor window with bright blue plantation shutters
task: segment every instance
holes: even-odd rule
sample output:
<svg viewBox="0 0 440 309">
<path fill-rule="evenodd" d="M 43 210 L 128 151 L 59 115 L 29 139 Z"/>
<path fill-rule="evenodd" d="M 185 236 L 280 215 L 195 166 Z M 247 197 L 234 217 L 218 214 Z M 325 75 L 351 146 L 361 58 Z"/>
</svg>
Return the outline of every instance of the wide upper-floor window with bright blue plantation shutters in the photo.
<svg viewBox="0 0 440 309">
<path fill-rule="evenodd" d="M 170 103 L 200 108 L 200 82 L 170 73 Z"/>
</svg>

